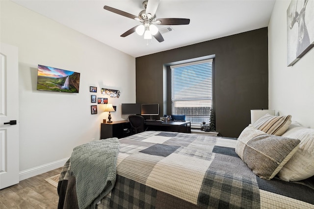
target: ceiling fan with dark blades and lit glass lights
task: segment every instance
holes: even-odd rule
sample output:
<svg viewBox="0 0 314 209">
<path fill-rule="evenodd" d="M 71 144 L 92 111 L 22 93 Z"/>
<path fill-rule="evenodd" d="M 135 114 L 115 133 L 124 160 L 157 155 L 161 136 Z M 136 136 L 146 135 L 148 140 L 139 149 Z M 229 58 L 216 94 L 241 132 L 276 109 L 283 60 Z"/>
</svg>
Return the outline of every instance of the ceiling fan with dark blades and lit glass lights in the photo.
<svg viewBox="0 0 314 209">
<path fill-rule="evenodd" d="M 121 35 L 121 37 L 126 37 L 134 32 L 138 35 L 144 34 L 144 39 L 152 39 L 152 35 L 156 38 L 158 42 L 163 42 L 164 39 L 161 33 L 158 31 L 156 24 L 158 25 L 181 25 L 189 24 L 190 19 L 184 18 L 156 18 L 156 10 L 159 4 L 159 0 L 145 0 L 143 1 L 144 10 L 142 10 L 138 16 L 132 15 L 130 13 L 121 11 L 119 9 L 112 8 L 110 6 L 104 6 L 105 10 L 116 13 L 118 15 L 125 16 L 127 18 L 139 21 L 140 25 L 132 27 L 130 30 L 126 31 Z"/>
</svg>

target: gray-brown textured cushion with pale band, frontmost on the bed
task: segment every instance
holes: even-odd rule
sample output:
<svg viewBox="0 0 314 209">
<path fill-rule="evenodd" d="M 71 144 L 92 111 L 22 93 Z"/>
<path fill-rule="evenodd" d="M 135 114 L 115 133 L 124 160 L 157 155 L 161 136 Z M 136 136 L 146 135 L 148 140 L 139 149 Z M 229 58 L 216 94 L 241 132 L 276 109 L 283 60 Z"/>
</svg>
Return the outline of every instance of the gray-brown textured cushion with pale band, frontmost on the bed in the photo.
<svg viewBox="0 0 314 209">
<path fill-rule="evenodd" d="M 299 139 L 264 134 L 251 125 L 243 130 L 235 148 L 254 174 L 272 179 L 297 151 Z"/>
</svg>

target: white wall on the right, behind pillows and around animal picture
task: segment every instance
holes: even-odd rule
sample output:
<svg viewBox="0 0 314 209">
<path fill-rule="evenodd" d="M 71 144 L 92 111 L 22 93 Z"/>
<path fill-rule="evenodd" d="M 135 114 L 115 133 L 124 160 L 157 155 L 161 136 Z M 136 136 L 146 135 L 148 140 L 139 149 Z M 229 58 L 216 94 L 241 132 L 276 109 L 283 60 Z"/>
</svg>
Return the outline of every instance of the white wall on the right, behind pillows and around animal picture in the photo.
<svg viewBox="0 0 314 209">
<path fill-rule="evenodd" d="M 275 109 L 279 115 L 291 115 L 292 120 L 314 128 L 314 48 L 287 67 L 289 3 L 290 0 L 276 1 L 268 25 L 269 109 Z M 314 8 L 314 1 L 308 2 L 307 8 L 310 7 Z M 308 28 L 313 32 L 314 24 Z"/>
</svg>

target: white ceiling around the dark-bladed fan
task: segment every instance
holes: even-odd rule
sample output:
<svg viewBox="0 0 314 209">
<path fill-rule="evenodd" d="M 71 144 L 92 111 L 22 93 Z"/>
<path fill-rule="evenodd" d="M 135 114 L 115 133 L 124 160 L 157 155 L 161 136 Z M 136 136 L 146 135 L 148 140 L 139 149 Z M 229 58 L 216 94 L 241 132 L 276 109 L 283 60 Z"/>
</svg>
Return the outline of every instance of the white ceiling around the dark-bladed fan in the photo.
<svg viewBox="0 0 314 209">
<path fill-rule="evenodd" d="M 133 15 L 143 0 L 12 0 L 133 57 L 196 44 L 268 26 L 275 0 L 160 0 L 157 18 L 188 18 L 188 25 L 171 25 L 164 42 L 136 33 L 121 34 L 139 22 L 109 12 L 110 6 Z M 159 29 L 168 27 L 158 25 Z"/>
</svg>

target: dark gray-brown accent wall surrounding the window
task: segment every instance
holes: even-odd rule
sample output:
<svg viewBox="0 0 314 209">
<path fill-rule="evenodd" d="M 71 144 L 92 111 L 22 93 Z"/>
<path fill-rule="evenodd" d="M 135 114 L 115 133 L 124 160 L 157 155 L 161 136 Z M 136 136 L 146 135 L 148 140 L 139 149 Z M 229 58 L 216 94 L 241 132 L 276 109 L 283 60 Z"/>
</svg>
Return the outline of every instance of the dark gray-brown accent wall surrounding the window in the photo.
<svg viewBox="0 0 314 209">
<path fill-rule="evenodd" d="M 167 92 L 163 89 L 164 65 L 215 55 L 216 131 L 224 137 L 238 137 L 250 123 L 251 109 L 268 109 L 267 33 L 265 27 L 137 57 L 136 102 L 159 103 L 161 116 L 163 92 Z"/>
</svg>

